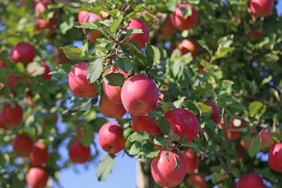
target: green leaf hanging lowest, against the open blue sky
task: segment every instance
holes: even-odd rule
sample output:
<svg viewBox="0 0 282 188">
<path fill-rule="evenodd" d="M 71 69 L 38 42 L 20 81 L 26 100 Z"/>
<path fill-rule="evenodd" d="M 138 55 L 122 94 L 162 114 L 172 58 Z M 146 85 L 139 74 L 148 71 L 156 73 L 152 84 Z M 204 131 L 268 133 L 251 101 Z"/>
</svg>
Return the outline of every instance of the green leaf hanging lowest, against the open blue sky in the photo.
<svg viewBox="0 0 282 188">
<path fill-rule="evenodd" d="M 112 172 L 115 165 L 115 156 L 112 154 L 105 155 L 98 166 L 96 176 L 98 181 L 105 181 L 107 176 Z"/>
</svg>

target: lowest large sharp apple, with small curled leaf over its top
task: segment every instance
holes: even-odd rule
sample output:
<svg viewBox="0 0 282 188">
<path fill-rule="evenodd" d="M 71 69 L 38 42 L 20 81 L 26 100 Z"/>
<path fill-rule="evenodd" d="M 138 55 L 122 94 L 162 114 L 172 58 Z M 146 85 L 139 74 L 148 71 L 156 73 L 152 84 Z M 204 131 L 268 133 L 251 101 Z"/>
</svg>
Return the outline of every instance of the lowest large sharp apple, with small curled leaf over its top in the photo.
<svg viewBox="0 0 282 188">
<path fill-rule="evenodd" d="M 160 152 L 151 163 L 151 173 L 154 180 L 163 187 L 175 187 L 179 185 L 186 174 L 186 164 L 184 157 L 176 151 L 173 155 L 178 158 L 179 169 L 173 169 L 176 166 L 173 155 L 169 153 L 169 161 L 166 158 L 167 151 Z"/>
</svg>

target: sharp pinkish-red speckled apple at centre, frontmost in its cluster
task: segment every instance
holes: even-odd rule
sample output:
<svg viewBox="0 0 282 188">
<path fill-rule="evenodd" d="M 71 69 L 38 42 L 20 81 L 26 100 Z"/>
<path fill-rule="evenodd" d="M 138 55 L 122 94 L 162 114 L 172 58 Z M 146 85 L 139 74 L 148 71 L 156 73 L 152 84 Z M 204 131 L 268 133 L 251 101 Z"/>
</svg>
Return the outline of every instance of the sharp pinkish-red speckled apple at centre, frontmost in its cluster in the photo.
<svg viewBox="0 0 282 188">
<path fill-rule="evenodd" d="M 127 79 L 121 90 L 122 104 L 131 115 L 142 116 L 151 112 L 158 102 L 158 88 L 149 77 L 134 75 Z"/>
</svg>

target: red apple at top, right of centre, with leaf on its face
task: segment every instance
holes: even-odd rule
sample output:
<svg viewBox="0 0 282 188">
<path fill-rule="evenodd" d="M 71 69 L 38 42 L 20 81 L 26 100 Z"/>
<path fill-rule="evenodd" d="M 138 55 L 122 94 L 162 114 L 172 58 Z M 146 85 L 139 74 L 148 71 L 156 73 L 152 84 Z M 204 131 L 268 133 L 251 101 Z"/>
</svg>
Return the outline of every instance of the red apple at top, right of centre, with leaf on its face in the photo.
<svg viewBox="0 0 282 188">
<path fill-rule="evenodd" d="M 187 7 L 191 7 L 192 15 L 188 16 L 185 19 L 183 14 L 182 14 L 181 9 L 185 9 Z M 191 29 L 192 27 L 197 25 L 197 23 L 199 21 L 199 16 L 198 16 L 197 11 L 195 10 L 195 8 L 192 5 L 190 5 L 188 3 L 182 4 L 178 7 L 176 7 L 175 12 L 170 14 L 170 18 L 171 18 L 171 22 L 174 25 L 174 27 L 176 27 L 177 29 L 179 29 L 181 31 Z"/>
</svg>

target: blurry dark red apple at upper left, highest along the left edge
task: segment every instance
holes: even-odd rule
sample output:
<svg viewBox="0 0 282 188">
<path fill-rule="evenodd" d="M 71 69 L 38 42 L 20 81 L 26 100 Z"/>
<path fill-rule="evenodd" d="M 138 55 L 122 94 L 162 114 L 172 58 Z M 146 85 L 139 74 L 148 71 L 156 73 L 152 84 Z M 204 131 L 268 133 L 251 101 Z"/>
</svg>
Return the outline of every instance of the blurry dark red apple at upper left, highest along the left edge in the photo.
<svg viewBox="0 0 282 188">
<path fill-rule="evenodd" d="M 28 43 L 18 43 L 12 47 L 11 58 L 13 63 L 22 62 L 26 66 L 35 57 L 35 49 Z"/>
</svg>

